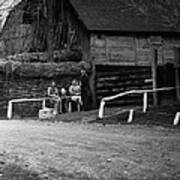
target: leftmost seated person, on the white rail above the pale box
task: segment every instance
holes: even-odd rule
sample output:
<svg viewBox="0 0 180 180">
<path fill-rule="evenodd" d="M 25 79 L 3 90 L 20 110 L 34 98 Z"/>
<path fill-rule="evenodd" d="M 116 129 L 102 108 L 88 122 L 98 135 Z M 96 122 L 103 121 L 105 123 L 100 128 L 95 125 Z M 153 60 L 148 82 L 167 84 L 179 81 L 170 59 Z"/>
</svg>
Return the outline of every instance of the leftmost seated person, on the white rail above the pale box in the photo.
<svg viewBox="0 0 180 180">
<path fill-rule="evenodd" d="M 51 86 L 48 87 L 48 96 L 54 103 L 55 113 L 58 114 L 59 106 L 61 103 L 61 98 L 59 97 L 58 88 L 56 87 L 56 83 L 54 81 L 52 82 Z M 61 110 L 61 106 L 60 106 L 60 113 L 61 112 L 62 112 L 62 110 Z"/>
</svg>

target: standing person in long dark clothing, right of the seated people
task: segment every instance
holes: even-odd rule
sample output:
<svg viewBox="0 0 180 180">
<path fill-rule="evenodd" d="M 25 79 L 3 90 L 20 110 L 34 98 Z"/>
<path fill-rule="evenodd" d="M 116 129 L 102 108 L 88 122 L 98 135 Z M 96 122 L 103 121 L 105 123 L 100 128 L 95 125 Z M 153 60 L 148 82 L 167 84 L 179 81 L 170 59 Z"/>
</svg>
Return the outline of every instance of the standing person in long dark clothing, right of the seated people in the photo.
<svg viewBox="0 0 180 180">
<path fill-rule="evenodd" d="M 81 98 L 83 103 L 83 110 L 90 110 L 91 90 L 89 86 L 89 77 L 84 69 L 81 70 Z"/>
</svg>

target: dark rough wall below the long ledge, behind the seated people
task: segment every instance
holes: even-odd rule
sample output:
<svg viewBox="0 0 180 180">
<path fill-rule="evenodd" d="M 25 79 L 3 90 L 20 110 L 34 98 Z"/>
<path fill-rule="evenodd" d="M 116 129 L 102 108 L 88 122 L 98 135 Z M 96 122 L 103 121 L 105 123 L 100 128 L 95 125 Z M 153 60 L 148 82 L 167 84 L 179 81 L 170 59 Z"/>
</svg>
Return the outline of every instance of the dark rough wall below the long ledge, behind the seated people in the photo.
<svg viewBox="0 0 180 180">
<path fill-rule="evenodd" d="M 40 98 L 47 96 L 47 88 L 52 80 L 55 80 L 58 89 L 65 87 L 68 89 L 72 79 L 79 78 L 78 75 L 58 77 L 56 79 L 11 79 L 0 80 L 0 116 L 6 117 L 8 101 L 18 98 Z M 36 116 L 41 108 L 41 103 L 19 103 L 14 106 L 13 117 Z"/>
</svg>

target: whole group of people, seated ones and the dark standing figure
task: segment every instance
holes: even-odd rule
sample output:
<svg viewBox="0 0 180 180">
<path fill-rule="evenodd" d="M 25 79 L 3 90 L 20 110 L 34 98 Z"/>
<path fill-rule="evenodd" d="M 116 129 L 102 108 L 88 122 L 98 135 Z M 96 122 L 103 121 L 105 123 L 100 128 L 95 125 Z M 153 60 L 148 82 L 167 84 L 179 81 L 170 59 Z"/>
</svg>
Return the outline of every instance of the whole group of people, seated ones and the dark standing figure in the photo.
<svg viewBox="0 0 180 180">
<path fill-rule="evenodd" d="M 53 81 L 51 86 L 48 87 L 48 97 L 54 105 L 56 114 L 68 112 L 69 102 L 76 103 L 82 110 L 89 110 L 91 91 L 86 71 L 82 69 L 80 80 L 74 79 L 69 88 L 61 88 L 60 93 Z"/>
</svg>

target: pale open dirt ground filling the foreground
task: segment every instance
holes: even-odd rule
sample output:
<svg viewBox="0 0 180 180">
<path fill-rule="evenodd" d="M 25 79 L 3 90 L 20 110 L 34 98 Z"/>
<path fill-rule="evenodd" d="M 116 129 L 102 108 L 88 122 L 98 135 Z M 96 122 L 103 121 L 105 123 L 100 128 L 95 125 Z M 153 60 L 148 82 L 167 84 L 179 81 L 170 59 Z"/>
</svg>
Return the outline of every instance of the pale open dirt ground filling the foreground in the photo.
<svg viewBox="0 0 180 180">
<path fill-rule="evenodd" d="M 3 171 L 9 165 L 54 180 L 180 179 L 180 131 L 146 125 L 0 121 L 1 180 L 13 179 Z"/>
</svg>

